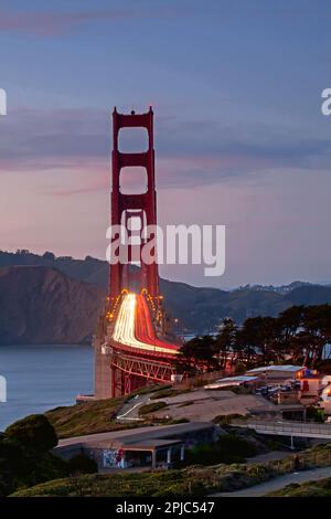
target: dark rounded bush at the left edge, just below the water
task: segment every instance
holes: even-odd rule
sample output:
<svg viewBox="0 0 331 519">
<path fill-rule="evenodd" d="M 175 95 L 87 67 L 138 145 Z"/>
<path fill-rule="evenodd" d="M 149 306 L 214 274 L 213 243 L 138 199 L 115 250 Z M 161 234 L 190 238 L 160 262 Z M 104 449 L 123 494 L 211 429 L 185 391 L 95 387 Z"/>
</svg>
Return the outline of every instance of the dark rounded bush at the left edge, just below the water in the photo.
<svg viewBox="0 0 331 519">
<path fill-rule="evenodd" d="M 57 445 L 55 430 L 44 414 L 31 414 L 14 422 L 7 427 L 4 435 L 36 452 L 46 452 Z"/>
</svg>

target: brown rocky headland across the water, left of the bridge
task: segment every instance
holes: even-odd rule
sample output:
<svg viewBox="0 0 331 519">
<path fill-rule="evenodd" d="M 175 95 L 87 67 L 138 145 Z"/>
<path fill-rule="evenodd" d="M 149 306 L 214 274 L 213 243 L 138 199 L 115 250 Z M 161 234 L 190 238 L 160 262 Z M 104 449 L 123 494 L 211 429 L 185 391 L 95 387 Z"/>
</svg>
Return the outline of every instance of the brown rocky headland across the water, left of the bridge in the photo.
<svg viewBox="0 0 331 519">
<path fill-rule="evenodd" d="M 88 342 L 105 296 L 53 268 L 0 268 L 0 343 Z"/>
</svg>

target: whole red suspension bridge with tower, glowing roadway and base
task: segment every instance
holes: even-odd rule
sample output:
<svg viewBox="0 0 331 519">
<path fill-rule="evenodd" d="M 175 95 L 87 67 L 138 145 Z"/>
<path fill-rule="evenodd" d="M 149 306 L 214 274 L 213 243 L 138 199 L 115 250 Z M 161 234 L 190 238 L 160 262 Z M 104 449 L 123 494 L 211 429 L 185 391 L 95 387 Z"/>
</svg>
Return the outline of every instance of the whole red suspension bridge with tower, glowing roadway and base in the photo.
<svg viewBox="0 0 331 519">
<path fill-rule="evenodd" d="M 119 131 L 137 127 L 147 130 L 148 149 L 121 152 Z M 158 264 L 157 261 L 146 263 L 142 255 L 143 245 L 149 244 L 156 256 L 154 236 L 143 232 L 147 225 L 157 224 L 151 107 L 146 114 L 119 114 L 114 109 L 111 162 L 111 229 L 124 225 L 128 254 L 126 261 L 119 257 L 118 262 L 110 263 L 109 296 L 94 339 L 97 400 L 128 394 L 151 382 L 180 379 L 175 366 L 181 343 L 168 326 Z M 146 169 L 146 192 L 125 194 L 120 191 L 121 170 L 129 167 Z M 118 241 L 118 233 L 111 235 L 114 255 Z"/>
</svg>

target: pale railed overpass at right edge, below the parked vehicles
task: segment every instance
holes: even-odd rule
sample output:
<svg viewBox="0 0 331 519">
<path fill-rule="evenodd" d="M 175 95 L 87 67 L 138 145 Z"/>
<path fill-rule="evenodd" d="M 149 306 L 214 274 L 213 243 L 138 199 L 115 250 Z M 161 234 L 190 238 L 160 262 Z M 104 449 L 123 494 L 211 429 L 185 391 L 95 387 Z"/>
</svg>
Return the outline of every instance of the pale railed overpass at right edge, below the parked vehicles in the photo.
<svg viewBox="0 0 331 519">
<path fill-rule="evenodd" d="M 259 434 L 270 434 L 274 436 L 291 436 L 306 438 L 320 438 L 331 441 L 331 424 L 318 424 L 307 422 L 267 420 L 233 420 L 232 425 L 236 427 L 254 428 Z"/>
</svg>

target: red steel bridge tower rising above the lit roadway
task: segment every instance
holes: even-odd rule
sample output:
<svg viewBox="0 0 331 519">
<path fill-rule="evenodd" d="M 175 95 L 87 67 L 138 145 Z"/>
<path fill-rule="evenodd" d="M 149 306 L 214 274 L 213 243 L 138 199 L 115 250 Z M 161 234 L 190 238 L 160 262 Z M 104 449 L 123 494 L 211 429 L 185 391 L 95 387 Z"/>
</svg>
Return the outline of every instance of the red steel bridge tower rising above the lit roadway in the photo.
<svg viewBox="0 0 331 519">
<path fill-rule="evenodd" d="M 140 152 L 122 152 L 118 147 L 119 131 L 126 128 L 146 128 L 148 134 L 147 150 Z M 159 296 L 159 273 L 156 262 L 151 264 L 143 263 L 141 250 L 142 246 L 154 239 L 153 235 L 143 237 L 142 229 L 146 225 L 157 224 L 157 193 L 154 181 L 154 149 L 153 149 L 153 110 L 150 106 L 149 110 L 145 114 L 136 114 L 131 110 L 130 114 L 120 114 L 116 107 L 113 112 L 113 187 L 111 187 L 111 226 L 124 225 L 128 236 L 128 262 L 110 265 L 110 286 L 109 297 L 110 300 L 116 298 L 124 288 L 134 286 L 137 289 L 147 289 L 153 297 Z M 142 167 L 147 173 L 147 191 L 138 194 L 122 193 L 120 191 L 120 174 L 125 168 Z M 134 172 L 135 173 L 135 172 Z M 132 230 L 130 229 L 130 219 L 135 218 L 140 221 L 140 232 L 138 232 L 138 240 L 130 240 L 132 237 Z M 137 232 L 135 233 L 137 237 Z M 111 247 L 118 242 L 118 236 L 111 237 Z M 156 256 L 156 252 L 153 254 Z M 139 272 L 135 272 L 130 264 L 138 263 L 140 265 Z M 137 277 L 139 278 L 137 280 Z"/>
</svg>

